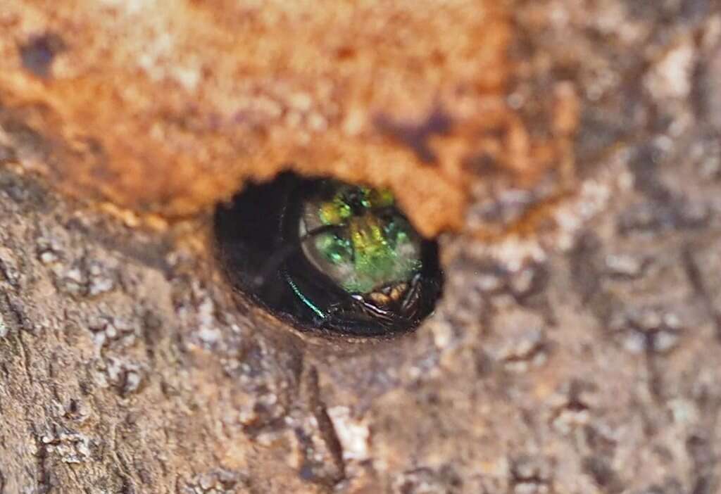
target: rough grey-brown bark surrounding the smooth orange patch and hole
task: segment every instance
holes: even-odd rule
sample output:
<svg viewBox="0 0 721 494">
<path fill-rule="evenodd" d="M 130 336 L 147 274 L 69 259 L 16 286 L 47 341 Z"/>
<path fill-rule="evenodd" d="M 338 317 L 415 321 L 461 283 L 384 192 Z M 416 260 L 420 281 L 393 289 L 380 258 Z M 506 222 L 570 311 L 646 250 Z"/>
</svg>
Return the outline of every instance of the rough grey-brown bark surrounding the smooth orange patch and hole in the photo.
<svg viewBox="0 0 721 494">
<path fill-rule="evenodd" d="M 510 97 L 575 84 L 578 187 L 552 231 L 444 235 L 402 338 L 297 333 L 209 217 L 128 228 L 1 168 L 0 493 L 720 492 L 721 6 L 519 5 Z M 1 95 L 0 128 L 0 163 L 52 159 Z"/>
</svg>

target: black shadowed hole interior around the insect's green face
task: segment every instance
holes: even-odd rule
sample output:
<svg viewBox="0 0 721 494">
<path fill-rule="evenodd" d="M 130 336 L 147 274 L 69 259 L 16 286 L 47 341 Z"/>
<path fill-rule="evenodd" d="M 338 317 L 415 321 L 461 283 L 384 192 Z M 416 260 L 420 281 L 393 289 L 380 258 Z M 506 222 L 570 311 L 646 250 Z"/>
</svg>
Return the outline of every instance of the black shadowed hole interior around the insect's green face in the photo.
<svg viewBox="0 0 721 494">
<path fill-rule="evenodd" d="M 227 279 L 250 300 L 304 331 L 377 337 L 417 327 L 441 295 L 438 244 L 421 244 L 422 268 L 415 278 L 417 284 L 412 285 L 420 295 L 413 315 L 394 313 L 389 320 L 355 310 L 333 312 L 337 305 L 355 307 L 351 294 L 314 266 L 300 247 L 301 205 L 318 194 L 323 183 L 322 179 L 280 174 L 267 184 L 249 185 L 229 205 L 219 206 L 214 231 Z"/>
</svg>

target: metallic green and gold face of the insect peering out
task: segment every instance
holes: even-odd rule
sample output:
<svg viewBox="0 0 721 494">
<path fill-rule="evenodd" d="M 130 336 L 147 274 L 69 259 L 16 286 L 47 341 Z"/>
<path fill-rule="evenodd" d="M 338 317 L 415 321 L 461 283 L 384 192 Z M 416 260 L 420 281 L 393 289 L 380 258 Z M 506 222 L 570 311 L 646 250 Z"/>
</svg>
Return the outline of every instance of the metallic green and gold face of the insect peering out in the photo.
<svg viewBox="0 0 721 494">
<path fill-rule="evenodd" d="M 301 234 L 339 227 L 304 245 L 322 272 L 346 291 L 365 294 L 407 282 L 420 271 L 420 237 L 395 209 L 390 192 L 334 181 L 324 190 L 306 202 L 301 217 Z"/>
</svg>

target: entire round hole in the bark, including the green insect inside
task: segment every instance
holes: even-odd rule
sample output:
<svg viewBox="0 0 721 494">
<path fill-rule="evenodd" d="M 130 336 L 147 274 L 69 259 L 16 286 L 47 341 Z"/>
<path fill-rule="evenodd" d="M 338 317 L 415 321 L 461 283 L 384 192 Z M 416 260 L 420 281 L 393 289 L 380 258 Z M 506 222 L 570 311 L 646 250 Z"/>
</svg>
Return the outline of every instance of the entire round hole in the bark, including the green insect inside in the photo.
<svg viewBox="0 0 721 494">
<path fill-rule="evenodd" d="M 403 333 L 441 295 L 438 245 L 387 190 L 282 174 L 218 207 L 215 234 L 234 287 L 301 330 Z"/>
</svg>

